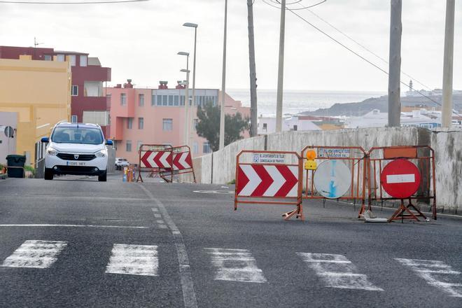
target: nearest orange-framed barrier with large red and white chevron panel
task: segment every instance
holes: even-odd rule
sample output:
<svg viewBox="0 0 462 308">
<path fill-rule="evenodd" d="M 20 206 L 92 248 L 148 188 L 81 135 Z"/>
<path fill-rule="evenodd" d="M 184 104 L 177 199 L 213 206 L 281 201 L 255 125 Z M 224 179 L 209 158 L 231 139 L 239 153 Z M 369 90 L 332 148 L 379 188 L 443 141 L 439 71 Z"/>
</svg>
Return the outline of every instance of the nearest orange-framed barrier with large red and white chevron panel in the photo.
<svg viewBox="0 0 462 308">
<path fill-rule="evenodd" d="M 283 214 L 304 221 L 302 159 L 296 152 L 241 151 L 236 158 L 237 204 L 286 204 L 296 209 Z"/>
</svg>

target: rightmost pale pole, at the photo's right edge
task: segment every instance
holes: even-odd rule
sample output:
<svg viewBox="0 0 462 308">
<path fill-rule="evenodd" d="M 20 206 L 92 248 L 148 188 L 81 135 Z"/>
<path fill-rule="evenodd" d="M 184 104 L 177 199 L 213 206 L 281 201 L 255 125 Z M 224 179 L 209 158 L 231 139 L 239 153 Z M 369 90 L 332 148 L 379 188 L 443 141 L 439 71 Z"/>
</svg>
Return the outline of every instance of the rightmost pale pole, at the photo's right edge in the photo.
<svg viewBox="0 0 462 308">
<path fill-rule="evenodd" d="M 446 27 L 444 30 L 444 64 L 441 126 L 452 125 L 452 71 L 454 62 L 454 3 L 446 0 Z"/>
</svg>

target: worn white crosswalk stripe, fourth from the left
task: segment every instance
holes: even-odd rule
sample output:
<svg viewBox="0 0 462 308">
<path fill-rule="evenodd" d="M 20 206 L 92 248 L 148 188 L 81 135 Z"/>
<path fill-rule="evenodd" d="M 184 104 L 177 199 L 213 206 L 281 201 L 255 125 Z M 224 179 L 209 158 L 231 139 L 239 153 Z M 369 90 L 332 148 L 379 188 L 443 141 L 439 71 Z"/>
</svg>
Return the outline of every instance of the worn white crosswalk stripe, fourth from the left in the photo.
<svg viewBox="0 0 462 308">
<path fill-rule="evenodd" d="M 365 274 L 355 274 L 356 266 L 344 255 L 329 253 L 297 253 L 324 281 L 328 288 L 349 288 L 383 291 L 367 280 Z"/>
</svg>

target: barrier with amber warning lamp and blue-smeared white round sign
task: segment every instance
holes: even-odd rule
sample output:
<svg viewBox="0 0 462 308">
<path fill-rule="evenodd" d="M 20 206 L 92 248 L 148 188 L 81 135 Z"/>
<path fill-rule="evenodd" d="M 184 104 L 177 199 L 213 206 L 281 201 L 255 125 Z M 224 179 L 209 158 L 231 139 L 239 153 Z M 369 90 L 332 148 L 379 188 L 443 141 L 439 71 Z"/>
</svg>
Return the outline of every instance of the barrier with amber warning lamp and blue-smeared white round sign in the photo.
<svg viewBox="0 0 462 308">
<path fill-rule="evenodd" d="M 359 146 L 306 146 L 303 199 L 349 199 L 365 212 L 367 153 Z"/>
</svg>

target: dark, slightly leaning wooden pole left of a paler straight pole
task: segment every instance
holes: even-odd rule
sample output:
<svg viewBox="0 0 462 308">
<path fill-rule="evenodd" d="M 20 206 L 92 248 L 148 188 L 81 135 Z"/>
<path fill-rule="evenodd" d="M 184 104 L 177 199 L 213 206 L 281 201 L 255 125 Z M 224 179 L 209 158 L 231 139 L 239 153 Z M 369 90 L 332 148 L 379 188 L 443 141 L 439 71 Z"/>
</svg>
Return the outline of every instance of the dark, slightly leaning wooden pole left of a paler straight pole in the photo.
<svg viewBox="0 0 462 308">
<path fill-rule="evenodd" d="M 247 17 L 248 17 L 248 65 L 250 66 L 250 83 L 251 83 L 251 137 L 258 134 L 257 131 L 257 72 L 255 69 L 255 43 L 253 41 L 253 2 L 247 0 Z"/>
</svg>

